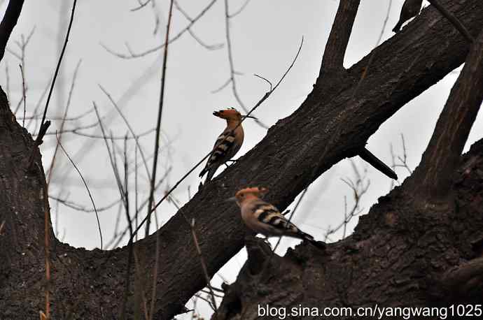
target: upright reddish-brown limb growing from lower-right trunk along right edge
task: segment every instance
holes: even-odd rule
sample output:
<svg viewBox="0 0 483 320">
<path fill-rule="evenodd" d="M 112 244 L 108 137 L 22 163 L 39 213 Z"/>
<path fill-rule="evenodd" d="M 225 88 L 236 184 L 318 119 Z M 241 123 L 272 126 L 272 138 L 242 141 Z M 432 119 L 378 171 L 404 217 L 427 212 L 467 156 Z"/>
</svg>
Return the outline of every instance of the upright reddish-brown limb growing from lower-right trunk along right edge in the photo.
<svg viewBox="0 0 483 320">
<path fill-rule="evenodd" d="M 446 201 L 451 176 L 483 101 L 483 32 L 472 45 L 451 89 L 433 136 L 412 177 L 414 192 L 426 201 Z"/>
</svg>

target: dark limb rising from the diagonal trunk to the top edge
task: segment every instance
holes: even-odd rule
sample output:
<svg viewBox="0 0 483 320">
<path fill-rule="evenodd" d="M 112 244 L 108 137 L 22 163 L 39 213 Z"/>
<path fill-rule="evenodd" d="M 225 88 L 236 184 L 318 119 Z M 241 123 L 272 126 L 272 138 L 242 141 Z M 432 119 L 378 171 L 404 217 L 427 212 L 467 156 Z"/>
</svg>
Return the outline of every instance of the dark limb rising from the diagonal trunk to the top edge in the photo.
<svg viewBox="0 0 483 320">
<path fill-rule="evenodd" d="M 340 0 L 323 52 L 321 75 L 344 70 L 344 57 L 360 0 Z"/>
</svg>

